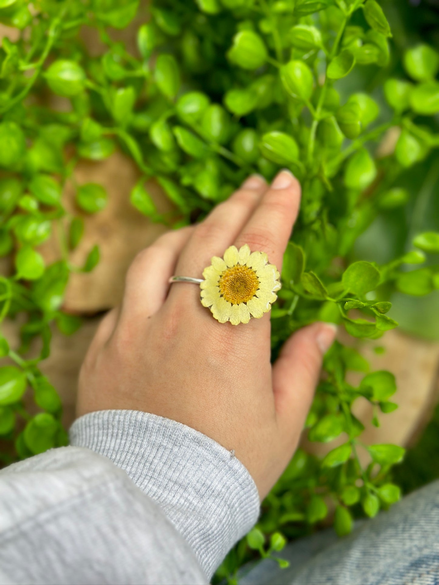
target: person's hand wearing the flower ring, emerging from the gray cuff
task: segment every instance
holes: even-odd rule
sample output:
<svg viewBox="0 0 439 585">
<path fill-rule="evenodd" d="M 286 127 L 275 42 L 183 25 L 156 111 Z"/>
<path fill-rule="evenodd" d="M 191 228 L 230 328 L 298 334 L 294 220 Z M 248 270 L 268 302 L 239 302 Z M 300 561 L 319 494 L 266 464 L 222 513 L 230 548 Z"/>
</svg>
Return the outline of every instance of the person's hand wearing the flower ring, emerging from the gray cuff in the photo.
<svg viewBox="0 0 439 585">
<path fill-rule="evenodd" d="M 133 261 L 122 306 L 102 320 L 80 373 L 77 414 L 151 412 L 210 436 L 235 455 L 262 499 L 297 447 L 335 328 L 291 336 L 270 364 L 270 314 L 221 324 L 196 284 L 212 256 L 248 243 L 279 271 L 296 220 L 300 185 L 282 171 L 271 187 L 250 177 L 197 226 L 161 236 Z"/>
</svg>

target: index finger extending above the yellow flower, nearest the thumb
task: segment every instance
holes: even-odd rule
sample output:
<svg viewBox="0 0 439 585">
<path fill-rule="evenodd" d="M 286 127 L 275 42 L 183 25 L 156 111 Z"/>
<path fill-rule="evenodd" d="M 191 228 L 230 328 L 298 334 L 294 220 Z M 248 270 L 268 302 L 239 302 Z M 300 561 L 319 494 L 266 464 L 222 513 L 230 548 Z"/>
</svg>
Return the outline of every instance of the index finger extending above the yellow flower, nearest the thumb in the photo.
<svg viewBox="0 0 439 585">
<path fill-rule="evenodd" d="M 299 204 L 299 181 L 289 170 L 280 171 L 243 226 L 235 246 L 248 244 L 252 252 L 265 252 L 280 272 Z"/>
</svg>

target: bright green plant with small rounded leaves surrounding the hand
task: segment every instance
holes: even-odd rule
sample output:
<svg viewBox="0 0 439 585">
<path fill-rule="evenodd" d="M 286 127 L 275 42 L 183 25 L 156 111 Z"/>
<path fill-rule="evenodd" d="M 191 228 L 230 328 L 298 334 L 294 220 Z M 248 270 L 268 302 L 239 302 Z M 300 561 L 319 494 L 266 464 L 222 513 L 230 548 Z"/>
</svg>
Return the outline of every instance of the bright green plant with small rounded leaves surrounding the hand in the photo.
<svg viewBox="0 0 439 585">
<path fill-rule="evenodd" d="M 138 52 L 131 53 L 112 30 L 136 15 Z M 392 32 L 379 2 L 155 0 L 147 14 L 137 0 L 39 0 L 32 12 L 24 0 L 0 0 L 0 22 L 18 32 L 0 50 L 0 254 L 12 256 L 16 269 L 0 277 L 0 319 L 25 315 L 18 351 L 0 339 L 0 355 L 9 358 L 0 369 L 0 434 L 15 441 L 19 457 L 67 442 L 59 397 L 39 363 L 49 355 L 53 322 L 66 334 L 80 326 L 62 310 L 69 274 L 90 271 L 100 259 L 93 247 L 83 267 L 70 261 L 83 220 L 64 208 L 62 193 L 78 160 L 99 161 L 115 149 L 129 154 L 142 172 L 132 205 L 172 228 L 203 218 L 250 173 L 271 180 L 287 167 L 296 174 L 303 199 L 272 310 L 273 358 L 292 332 L 316 320 L 378 339 L 397 326 L 388 315 L 392 291 L 418 296 L 439 288 L 437 265 L 416 267 L 439 253 L 435 232 L 416 233 L 413 249 L 385 264 L 352 261 L 373 219 L 407 203 L 397 178 L 439 147 L 439 134 L 426 125 L 439 112 L 439 54 L 413 46 L 404 53 L 406 75 L 389 77 Z M 81 40 L 83 26 L 105 47 L 99 56 Z M 345 80 L 358 68 L 383 68 L 385 108 L 349 88 Z M 50 106 L 53 95 L 68 107 Z M 390 129 L 399 129 L 395 151 L 380 156 L 376 144 Z M 174 211 L 157 212 L 146 188 L 152 177 Z M 99 184 L 76 185 L 77 207 L 87 214 L 107 199 Z M 54 226 L 62 257 L 46 266 L 38 246 Z M 41 352 L 27 359 L 35 338 Z M 352 370 L 365 374 L 357 387 L 346 378 Z M 378 425 L 379 412 L 396 408 L 395 378 L 369 372 L 341 343 L 324 371 L 308 438 L 342 436 L 344 443 L 323 461 L 296 452 L 256 532 L 232 551 L 219 577 L 232 582 L 251 550 L 280 550 L 279 530 L 293 538 L 323 521 L 328 498 L 339 535 L 350 531 L 352 514 L 372 517 L 399 498 L 389 472 L 404 450 L 369 446 L 364 469 L 363 425 L 351 410 L 366 398 Z M 42 410 L 36 416 L 23 404 L 28 385 Z M 25 428 L 16 431 L 22 419 Z M 269 549 L 264 534 L 273 535 Z"/>
</svg>

